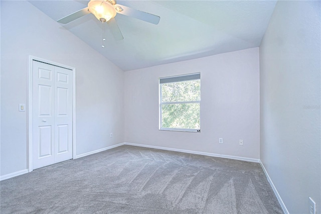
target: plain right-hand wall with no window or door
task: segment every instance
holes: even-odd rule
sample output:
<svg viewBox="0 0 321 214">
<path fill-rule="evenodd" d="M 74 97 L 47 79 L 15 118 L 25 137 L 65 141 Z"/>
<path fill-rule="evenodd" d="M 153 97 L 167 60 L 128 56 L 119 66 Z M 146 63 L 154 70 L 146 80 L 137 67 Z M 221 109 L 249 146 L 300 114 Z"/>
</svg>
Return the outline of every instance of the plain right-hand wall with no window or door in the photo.
<svg viewBox="0 0 321 214">
<path fill-rule="evenodd" d="M 260 46 L 260 158 L 290 213 L 320 201 L 320 1 L 279 1 Z"/>
</svg>

